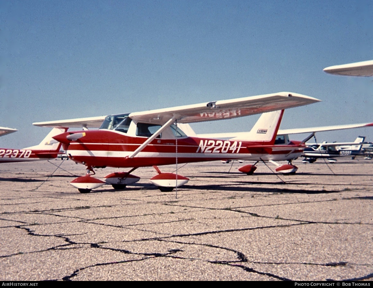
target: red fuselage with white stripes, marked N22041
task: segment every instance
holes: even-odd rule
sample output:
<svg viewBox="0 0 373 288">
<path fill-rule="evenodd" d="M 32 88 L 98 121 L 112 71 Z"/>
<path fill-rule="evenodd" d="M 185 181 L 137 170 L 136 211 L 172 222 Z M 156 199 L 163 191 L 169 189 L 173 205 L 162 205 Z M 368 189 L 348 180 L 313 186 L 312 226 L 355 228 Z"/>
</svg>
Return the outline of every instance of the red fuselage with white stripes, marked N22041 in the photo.
<svg viewBox="0 0 373 288">
<path fill-rule="evenodd" d="M 66 137 L 82 133 L 76 141 Z M 88 167 L 146 167 L 152 165 L 201 162 L 225 159 L 291 160 L 301 155 L 305 146 L 300 142 L 291 145 L 271 145 L 269 142 L 219 140 L 197 137 L 176 139 L 156 138 L 134 158 L 131 154 L 147 140 L 115 130 L 74 131 L 53 137 L 63 144 L 69 157 Z M 176 145 L 177 142 L 177 145 Z"/>
</svg>

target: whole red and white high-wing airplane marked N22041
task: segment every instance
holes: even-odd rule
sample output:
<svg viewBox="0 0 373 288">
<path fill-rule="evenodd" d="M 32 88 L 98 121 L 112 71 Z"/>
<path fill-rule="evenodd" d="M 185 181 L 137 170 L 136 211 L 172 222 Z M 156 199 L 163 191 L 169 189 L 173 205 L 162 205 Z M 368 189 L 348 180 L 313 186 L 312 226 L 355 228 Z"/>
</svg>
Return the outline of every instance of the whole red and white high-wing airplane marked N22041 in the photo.
<svg viewBox="0 0 373 288">
<path fill-rule="evenodd" d="M 124 188 L 140 180 L 130 174 L 132 171 L 147 166 L 153 166 L 158 172 L 150 181 L 159 186 L 161 191 L 172 191 L 189 179 L 173 173 L 162 173 L 157 165 L 224 159 L 280 161 L 297 158 L 305 148 L 303 142 L 275 145 L 283 109 L 318 101 L 297 93 L 281 92 L 106 117 L 39 122 L 34 125 L 84 128 L 53 137 L 63 144 L 63 149 L 73 161 L 87 167 L 86 176 L 71 182 L 81 193 L 88 193 L 105 183 L 115 189 Z M 264 114 L 247 137 L 240 140 L 187 136 L 178 127 L 185 123 L 260 113 Z M 89 127 L 97 127 L 98 123 L 102 123 L 99 130 L 87 130 Z M 187 130 L 188 127 L 183 128 Z M 104 178 L 106 182 L 91 176 L 94 174 L 93 168 L 107 166 L 132 169 L 109 174 Z M 246 165 L 245 169 L 251 170 L 250 166 L 253 165 Z M 294 169 L 289 164 L 282 166 L 282 170 Z"/>
</svg>

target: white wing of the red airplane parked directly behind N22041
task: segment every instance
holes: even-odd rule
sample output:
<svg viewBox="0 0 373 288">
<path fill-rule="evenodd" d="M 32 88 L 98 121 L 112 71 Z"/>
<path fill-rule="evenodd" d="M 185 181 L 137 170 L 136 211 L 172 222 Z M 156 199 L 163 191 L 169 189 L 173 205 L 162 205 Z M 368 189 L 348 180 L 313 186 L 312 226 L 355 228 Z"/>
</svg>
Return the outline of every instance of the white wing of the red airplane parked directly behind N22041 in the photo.
<svg viewBox="0 0 373 288">
<path fill-rule="evenodd" d="M 294 128 L 294 129 L 279 129 L 277 135 L 285 134 L 301 134 L 301 133 L 315 133 L 322 131 L 332 130 L 343 130 L 360 127 L 373 127 L 373 123 L 361 123 L 361 124 L 346 124 L 346 125 L 335 125 L 335 126 L 321 126 L 321 127 L 309 127 L 309 128 Z M 197 134 L 198 137 L 202 138 L 242 138 L 247 135 L 248 132 L 227 132 L 227 133 L 207 133 Z"/>
</svg>

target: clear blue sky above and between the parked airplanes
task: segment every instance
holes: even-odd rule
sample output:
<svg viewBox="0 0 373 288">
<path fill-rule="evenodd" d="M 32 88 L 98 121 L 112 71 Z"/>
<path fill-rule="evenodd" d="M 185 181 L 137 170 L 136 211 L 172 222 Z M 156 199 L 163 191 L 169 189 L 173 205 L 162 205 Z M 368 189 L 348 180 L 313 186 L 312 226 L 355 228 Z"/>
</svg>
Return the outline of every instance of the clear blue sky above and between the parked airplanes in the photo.
<svg viewBox="0 0 373 288">
<path fill-rule="evenodd" d="M 281 128 L 373 122 L 372 77 L 322 71 L 373 59 L 372 1 L 1 1 L 1 147 L 39 143 L 33 122 L 296 92 L 323 100 Z M 193 124 L 249 131 L 258 116 Z M 373 129 L 318 140 L 373 141 Z M 303 139 L 294 136 L 294 139 Z"/>
</svg>

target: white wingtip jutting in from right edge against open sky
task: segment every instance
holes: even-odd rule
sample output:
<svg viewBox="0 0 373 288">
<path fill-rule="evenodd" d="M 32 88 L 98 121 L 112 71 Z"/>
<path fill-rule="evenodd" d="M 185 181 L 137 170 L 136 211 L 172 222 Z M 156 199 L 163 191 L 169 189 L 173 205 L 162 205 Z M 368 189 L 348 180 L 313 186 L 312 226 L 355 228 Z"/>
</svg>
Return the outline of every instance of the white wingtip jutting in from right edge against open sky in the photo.
<svg viewBox="0 0 373 288">
<path fill-rule="evenodd" d="M 347 76 L 373 76 L 373 60 L 335 65 L 324 68 L 326 73 Z"/>
</svg>

